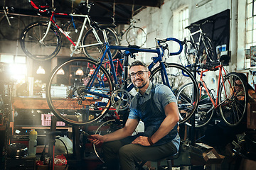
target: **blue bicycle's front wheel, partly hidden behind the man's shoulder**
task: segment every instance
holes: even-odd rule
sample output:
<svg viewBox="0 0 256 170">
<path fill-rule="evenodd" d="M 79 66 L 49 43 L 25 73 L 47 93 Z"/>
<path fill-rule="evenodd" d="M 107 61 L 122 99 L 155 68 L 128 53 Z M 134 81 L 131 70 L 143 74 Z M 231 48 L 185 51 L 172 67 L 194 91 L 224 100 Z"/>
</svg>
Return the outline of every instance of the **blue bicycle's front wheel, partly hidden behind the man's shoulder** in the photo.
<svg viewBox="0 0 256 170">
<path fill-rule="evenodd" d="M 196 80 L 188 69 L 179 64 L 165 63 L 165 65 L 170 87 L 176 96 L 178 111 L 184 115 L 182 116 L 183 119 L 180 120 L 180 123 L 185 123 L 191 118 L 191 115 L 193 115 L 198 106 L 199 92 Z M 150 80 L 153 83 L 166 84 L 166 81 L 161 74 L 161 67 L 156 67 L 156 69 L 151 72 Z M 180 91 L 181 87 L 186 84 L 193 84 L 193 87 L 195 88 L 191 86 L 192 89 L 189 91 L 183 90 L 182 93 L 177 96 L 178 91 Z"/>
</svg>

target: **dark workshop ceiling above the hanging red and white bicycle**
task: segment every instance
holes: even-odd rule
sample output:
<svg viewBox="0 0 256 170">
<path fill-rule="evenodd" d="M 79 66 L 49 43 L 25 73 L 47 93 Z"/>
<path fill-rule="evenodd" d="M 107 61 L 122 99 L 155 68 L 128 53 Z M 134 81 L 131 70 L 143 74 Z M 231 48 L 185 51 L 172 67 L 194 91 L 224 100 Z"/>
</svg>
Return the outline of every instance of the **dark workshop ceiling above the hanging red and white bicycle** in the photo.
<svg viewBox="0 0 256 170">
<path fill-rule="evenodd" d="M 81 6 L 81 3 L 86 3 L 85 0 L 33 0 L 35 4 L 45 4 L 46 1 L 54 1 L 56 12 L 71 13 L 75 8 L 80 8 L 80 12 L 86 14 L 86 6 Z M 127 24 L 133 15 L 142 11 L 146 6 L 160 7 L 164 0 L 92 0 L 94 5 L 91 8 L 90 16 L 97 22 L 112 23 L 113 7 L 114 21 L 116 24 Z M 89 2 L 92 2 L 89 1 Z M 42 5 L 43 5 L 42 4 Z M 13 7 L 10 13 L 26 16 L 38 16 L 38 11 L 28 3 L 28 0 L 4 0 L 0 2 L 0 6 Z M 133 9 L 133 10 L 132 10 Z M 46 15 L 46 14 L 42 14 Z"/>
</svg>

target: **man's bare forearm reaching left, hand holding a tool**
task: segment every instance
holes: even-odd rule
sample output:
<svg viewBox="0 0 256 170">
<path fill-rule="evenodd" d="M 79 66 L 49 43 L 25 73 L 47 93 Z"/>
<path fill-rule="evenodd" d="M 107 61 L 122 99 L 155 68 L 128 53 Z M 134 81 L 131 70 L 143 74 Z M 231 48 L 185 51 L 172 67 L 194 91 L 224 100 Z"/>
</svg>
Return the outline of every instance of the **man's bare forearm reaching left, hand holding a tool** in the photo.
<svg viewBox="0 0 256 170">
<path fill-rule="evenodd" d="M 113 140 L 121 140 L 124 137 L 128 137 L 132 135 L 134 130 L 137 128 L 139 124 L 139 120 L 137 119 L 127 119 L 127 122 L 124 125 L 124 128 L 109 133 L 107 135 L 92 135 L 92 139 L 89 139 L 91 142 L 95 143 L 95 145 L 99 144 L 100 142 L 108 142 Z"/>
</svg>

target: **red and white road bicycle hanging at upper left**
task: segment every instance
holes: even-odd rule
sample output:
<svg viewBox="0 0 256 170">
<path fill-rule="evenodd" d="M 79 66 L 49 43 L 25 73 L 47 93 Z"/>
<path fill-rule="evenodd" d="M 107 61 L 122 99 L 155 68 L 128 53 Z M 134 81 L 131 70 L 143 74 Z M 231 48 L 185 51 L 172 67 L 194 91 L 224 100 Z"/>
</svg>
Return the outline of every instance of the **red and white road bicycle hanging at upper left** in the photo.
<svg viewBox="0 0 256 170">
<path fill-rule="evenodd" d="M 100 53 L 104 51 L 104 42 L 108 42 L 110 45 L 119 45 L 117 35 L 110 29 L 115 27 L 113 24 L 98 24 L 92 21 L 88 15 L 55 13 L 55 8 L 37 6 L 32 0 L 29 2 L 34 8 L 38 9 L 39 12 L 48 12 L 51 14 L 48 22 L 31 23 L 21 33 L 21 48 L 28 57 L 34 60 L 50 60 L 58 55 L 62 42 L 60 33 L 72 43 L 70 46 L 72 50 L 70 57 L 77 51 L 79 53 L 82 49 L 87 57 L 95 60 L 100 56 Z M 92 4 L 87 3 L 87 13 L 90 13 L 91 6 Z M 75 42 L 71 40 L 70 35 L 58 26 L 58 23 L 55 21 L 56 15 L 70 17 L 72 21 L 73 17 L 84 18 L 78 40 Z M 82 38 L 86 23 L 89 23 L 90 29 L 87 30 Z M 75 26 L 74 21 L 73 25 Z M 111 53 L 114 58 L 115 55 L 117 55 L 117 50 L 112 50 Z"/>
</svg>

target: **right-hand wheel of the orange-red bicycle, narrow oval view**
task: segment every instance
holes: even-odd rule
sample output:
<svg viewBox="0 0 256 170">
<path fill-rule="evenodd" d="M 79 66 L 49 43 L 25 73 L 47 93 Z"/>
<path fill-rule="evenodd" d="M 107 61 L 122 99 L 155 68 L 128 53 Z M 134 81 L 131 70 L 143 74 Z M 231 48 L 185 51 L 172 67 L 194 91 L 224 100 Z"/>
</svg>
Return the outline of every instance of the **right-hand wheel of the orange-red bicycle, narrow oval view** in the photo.
<svg viewBox="0 0 256 170">
<path fill-rule="evenodd" d="M 229 126 L 236 126 L 245 115 L 248 100 L 247 86 L 237 73 L 229 73 L 220 85 L 218 102 L 220 115 Z"/>
</svg>

